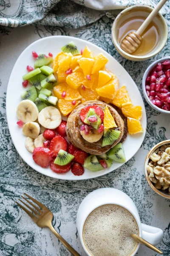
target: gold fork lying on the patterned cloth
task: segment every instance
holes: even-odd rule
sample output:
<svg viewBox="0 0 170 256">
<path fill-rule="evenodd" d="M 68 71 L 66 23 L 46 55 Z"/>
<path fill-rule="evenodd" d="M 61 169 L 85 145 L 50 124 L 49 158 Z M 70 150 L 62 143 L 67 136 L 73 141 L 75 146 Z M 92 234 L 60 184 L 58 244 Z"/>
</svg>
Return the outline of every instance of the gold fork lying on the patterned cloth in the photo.
<svg viewBox="0 0 170 256">
<path fill-rule="evenodd" d="M 30 207 L 28 204 L 26 204 L 24 201 L 20 200 L 21 203 L 23 203 L 28 209 L 31 210 L 28 211 L 28 209 L 26 209 L 26 207 L 24 207 L 22 204 L 16 202 L 17 205 L 19 205 L 31 218 L 32 220 L 39 226 L 39 227 L 49 227 L 51 229 L 51 231 L 54 233 L 54 235 L 59 239 L 59 241 L 71 252 L 72 255 L 74 256 L 80 256 L 79 253 L 77 253 L 76 250 L 74 250 L 74 248 L 68 244 L 67 241 L 65 241 L 65 239 L 62 238 L 62 236 L 59 235 L 59 233 L 54 229 L 54 227 L 52 226 L 51 222 L 53 219 L 53 214 L 52 212 L 44 205 L 41 204 L 39 201 L 37 201 L 36 199 L 32 198 L 30 195 L 27 195 L 26 193 L 24 193 L 24 195 L 26 197 L 28 197 L 30 200 L 32 200 L 35 204 L 37 204 L 37 207 L 35 204 L 31 203 L 27 198 L 23 197 L 22 198 L 24 200 L 26 200 L 28 202 L 28 204 L 30 204 L 32 207 Z M 34 208 L 33 208 L 34 207 Z M 37 211 L 36 211 L 36 210 Z M 34 213 L 34 214 L 33 214 Z"/>
</svg>

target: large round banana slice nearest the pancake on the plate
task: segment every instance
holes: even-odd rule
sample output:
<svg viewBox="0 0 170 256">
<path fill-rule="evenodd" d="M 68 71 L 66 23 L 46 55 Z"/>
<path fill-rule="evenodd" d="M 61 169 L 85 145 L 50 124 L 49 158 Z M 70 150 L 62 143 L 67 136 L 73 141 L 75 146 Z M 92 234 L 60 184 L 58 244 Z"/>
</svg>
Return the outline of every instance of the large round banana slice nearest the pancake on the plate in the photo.
<svg viewBox="0 0 170 256">
<path fill-rule="evenodd" d="M 61 123 L 61 114 L 55 107 L 43 108 L 38 114 L 38 122 L 45 128 L 55 129 Z"/>
</svg>

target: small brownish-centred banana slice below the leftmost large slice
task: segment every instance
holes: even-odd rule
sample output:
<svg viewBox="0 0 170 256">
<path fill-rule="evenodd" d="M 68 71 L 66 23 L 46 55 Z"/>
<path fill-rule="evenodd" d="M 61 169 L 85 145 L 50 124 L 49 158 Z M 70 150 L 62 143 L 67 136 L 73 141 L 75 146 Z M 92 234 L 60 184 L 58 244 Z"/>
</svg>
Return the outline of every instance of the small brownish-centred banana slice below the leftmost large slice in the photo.
<svg viewBox="0 0 170 256">
<path fill-rule="evenodd" d="M 23 126 L 23 134 L 32 139 L 37 138 L 39 133 L 40 133 L 40 125 L 37 124 L 36 122 L 27 122 Z"/>
</svg>

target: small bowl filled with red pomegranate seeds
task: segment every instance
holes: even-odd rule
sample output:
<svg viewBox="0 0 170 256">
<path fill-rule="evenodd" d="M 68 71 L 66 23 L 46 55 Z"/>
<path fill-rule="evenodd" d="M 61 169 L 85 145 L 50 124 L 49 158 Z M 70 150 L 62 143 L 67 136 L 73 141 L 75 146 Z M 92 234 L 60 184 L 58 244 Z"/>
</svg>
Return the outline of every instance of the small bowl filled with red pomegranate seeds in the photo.
<svg viewBox="0 0 170 256">
<path fill-rule="evenodd" d="M 147 68 L 142 89 L 152 108 L 170 114 L 170 57 L 161 58 Z"/>
</svg>

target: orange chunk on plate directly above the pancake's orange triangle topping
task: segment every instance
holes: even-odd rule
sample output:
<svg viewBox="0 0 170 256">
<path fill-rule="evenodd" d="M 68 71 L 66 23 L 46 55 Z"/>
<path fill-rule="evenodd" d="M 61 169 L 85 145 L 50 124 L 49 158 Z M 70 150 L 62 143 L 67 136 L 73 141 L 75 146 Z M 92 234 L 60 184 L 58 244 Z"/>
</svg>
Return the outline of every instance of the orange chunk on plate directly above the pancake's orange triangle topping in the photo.
<svg viewBox="0 0 170 256">
<path fill-rule="evenodd" d="M 96 88 L 96 92 L 99 94 L 99 96 L 113 99 L 116 92 L 118 90 L 118 84 L 115 83 L 114 79 L 111 79 L 108 81 L 107 84 L 105 84 L 102 87 Z"/>
</svg>

